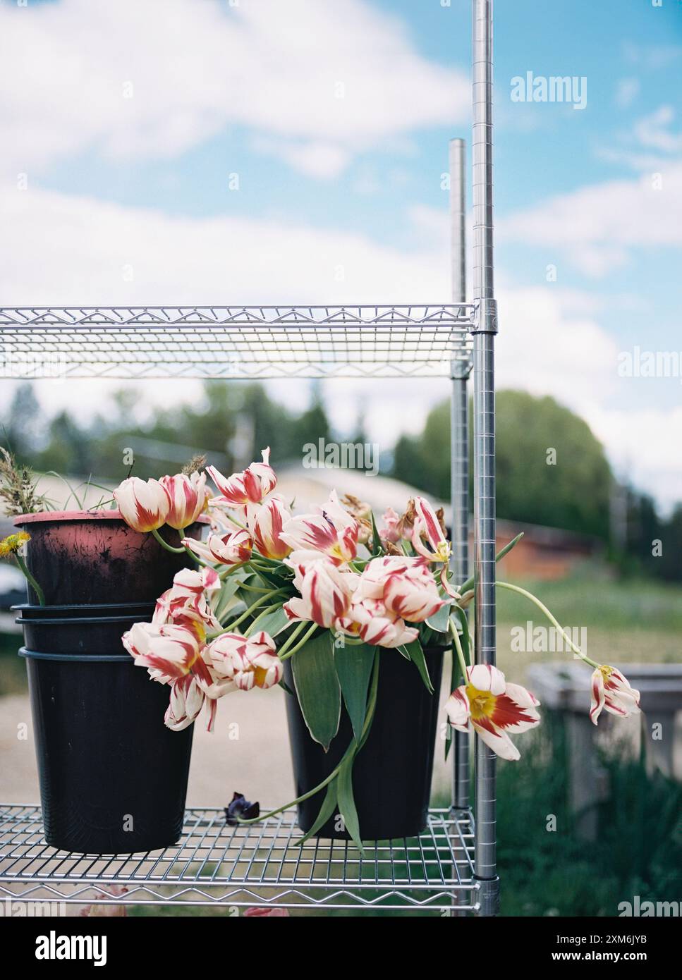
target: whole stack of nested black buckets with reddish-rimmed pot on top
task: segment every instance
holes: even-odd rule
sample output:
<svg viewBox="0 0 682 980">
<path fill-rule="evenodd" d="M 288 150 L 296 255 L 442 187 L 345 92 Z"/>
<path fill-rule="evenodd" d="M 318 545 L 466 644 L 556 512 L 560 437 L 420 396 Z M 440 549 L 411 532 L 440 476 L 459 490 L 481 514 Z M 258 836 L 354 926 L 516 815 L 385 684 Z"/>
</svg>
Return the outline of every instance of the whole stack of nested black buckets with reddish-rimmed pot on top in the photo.
<svg viewBox="0 0 682 980">
<path fill-rule="evenodd" d="M 47 604 L 29 589 L 15 607 L 46 841 L 91 855 L 168 847 L 182 829 L 192 726 L 165 726 L 170 687 L 135 666 L 121 638 L 151 620 L 184 558 L 117 512 L 17 522 L 31 536 L 27 560 Z"/>
</svg>

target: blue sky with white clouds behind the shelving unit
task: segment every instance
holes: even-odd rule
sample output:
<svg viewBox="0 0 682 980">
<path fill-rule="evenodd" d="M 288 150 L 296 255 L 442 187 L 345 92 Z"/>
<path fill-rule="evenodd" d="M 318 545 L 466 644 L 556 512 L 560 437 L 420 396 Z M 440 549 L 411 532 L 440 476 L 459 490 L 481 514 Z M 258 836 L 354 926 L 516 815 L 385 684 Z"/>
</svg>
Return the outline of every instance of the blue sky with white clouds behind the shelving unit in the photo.
<svg viewBox="0 0 682 980">
<path fill-rule="evenodd" d="M 501 385 L 581 412 L 669 505 L 681 378 L 616 362 L 635 344 L 682 358 L 682 3 L 499 0 L 495 17 Z M 5 303 L 448 298 L 468 0 L 4 0 L 0 21 Z M 528 72 L 584 76 L 585 108 L 512 102 Z M 446 393 L 417 384 L 415 403 Z M 328 397 L 349 426 L 364 401 L 386 441 L 422 419 L 381 385 Z"/>
</svg>

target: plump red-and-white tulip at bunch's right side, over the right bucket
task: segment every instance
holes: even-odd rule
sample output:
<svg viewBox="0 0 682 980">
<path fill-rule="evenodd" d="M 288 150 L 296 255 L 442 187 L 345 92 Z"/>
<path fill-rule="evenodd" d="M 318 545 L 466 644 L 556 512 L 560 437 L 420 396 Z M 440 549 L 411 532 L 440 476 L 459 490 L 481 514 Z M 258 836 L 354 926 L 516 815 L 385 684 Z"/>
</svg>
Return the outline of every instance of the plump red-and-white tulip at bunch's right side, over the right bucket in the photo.
<svg viewBox="0 0 682 980">
<path fill-rule="evenodd" d="M 423 558 L 375 558 L 365 565 L 356 600 L 381 600 L 390 613 L 410 622 L 423 622 L 437 613 L 445 600 Z"/>
</svg>

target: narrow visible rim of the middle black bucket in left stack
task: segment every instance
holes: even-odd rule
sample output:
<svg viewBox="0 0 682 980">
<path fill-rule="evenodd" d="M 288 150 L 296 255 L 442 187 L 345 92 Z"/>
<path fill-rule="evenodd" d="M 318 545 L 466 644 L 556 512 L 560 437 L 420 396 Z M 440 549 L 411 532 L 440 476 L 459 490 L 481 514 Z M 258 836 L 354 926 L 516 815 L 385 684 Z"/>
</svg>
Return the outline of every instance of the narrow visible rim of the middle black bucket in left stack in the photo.
<svg viewBox="0 0 682 980">
<path fill-rule="evenodd" d="M 16 621 L 24 629 L 24 645 L 28 650 L 42 650 L 49 654 L 123 654 L 123 633 L 133 623 L 149 622 L 152 613 L 153 610 L 147 608 L 144 613 L 116 616 L 25 619 L 22 615 Z"/>
</svg>

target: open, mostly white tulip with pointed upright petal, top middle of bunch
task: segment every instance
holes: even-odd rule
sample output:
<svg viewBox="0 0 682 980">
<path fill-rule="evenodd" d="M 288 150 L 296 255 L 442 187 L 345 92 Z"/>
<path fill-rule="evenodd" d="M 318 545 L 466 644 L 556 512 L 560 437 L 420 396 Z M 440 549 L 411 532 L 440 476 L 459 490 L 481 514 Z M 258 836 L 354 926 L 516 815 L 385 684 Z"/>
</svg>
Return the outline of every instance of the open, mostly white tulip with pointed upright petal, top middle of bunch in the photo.
<svg viewBox="0 0 682 980">
<path fill-rule="evenodd" d="M 319 514 L 288 520 L 281 539 L 292 548 L 294 564 L 315 562 L 322 555 L 334 564 L 344 564 L 356 557 L 359 531 L 358 521 L 341 507 L 336 491 L 332 490 Z"/>
</svg>

